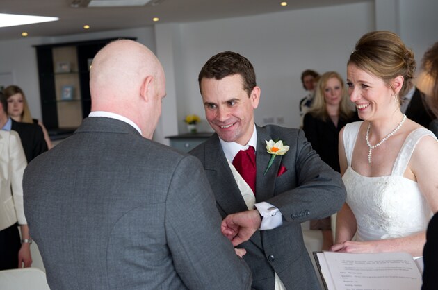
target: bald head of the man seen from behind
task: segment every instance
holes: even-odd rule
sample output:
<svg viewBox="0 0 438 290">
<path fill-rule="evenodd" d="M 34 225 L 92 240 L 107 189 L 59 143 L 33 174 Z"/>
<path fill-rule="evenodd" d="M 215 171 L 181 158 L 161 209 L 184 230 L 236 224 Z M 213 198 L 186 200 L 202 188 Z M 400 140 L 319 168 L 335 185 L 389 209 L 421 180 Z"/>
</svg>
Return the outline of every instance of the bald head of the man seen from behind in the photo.
<svg viewBox="0 0 438 290">
<path fill-rule="evenodd" d="M 90 92 L 92 111 L 121 114 L 142 128 L 145 121 L 158 121 L 155 121 L 154 112 L 149 110 L 156 109 L 161 113 L 161 98 L 165 94 L 163 67 L 143 44 L 116 40 L 107 44 L 93 59 Z M 150 108 L 151 98 L 160 99 L 159 108 Z M 145 103 L 148 104 L 145 106 Z M 152 119 L 145 120 L 147 117 Z"/>
</svg>

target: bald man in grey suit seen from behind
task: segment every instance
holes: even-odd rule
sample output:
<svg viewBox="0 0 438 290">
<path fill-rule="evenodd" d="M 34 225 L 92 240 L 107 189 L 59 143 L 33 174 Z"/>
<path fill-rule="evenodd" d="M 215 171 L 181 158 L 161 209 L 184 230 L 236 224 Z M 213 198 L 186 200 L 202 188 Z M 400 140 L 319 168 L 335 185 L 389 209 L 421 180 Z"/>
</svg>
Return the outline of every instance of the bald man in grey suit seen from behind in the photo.
<svg viewBox="0 0 438 290">
<path fill-rule="evenodd" d="M 165 96 L 154 53 L 111 42 L 90 92 L 89 117 L 24 173 L 51 289 L 249 289 L 200 162 L 151 140 Z"/>
</svg>

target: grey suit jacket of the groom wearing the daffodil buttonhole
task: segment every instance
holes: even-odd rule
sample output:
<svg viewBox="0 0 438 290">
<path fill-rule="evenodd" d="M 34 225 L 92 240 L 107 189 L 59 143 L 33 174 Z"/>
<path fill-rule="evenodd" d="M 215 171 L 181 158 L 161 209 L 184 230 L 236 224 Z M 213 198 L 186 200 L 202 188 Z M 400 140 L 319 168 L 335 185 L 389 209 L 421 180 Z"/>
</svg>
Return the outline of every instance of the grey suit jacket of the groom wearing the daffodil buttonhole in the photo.
<svg viewBox="0 0 438 290">
<path fill-rule="evenodd" d="M 290 148 L 285 155 L 275 157 L 263 176 L 270 160 L 265 140 L 270 139 L 281 139 Z M 248 210 L 218 135 L 213 135 L 190 154 L 204 164 L 222 218 Z M 252 270 L 252 287 L 274 289 L 275 271 L 287 289 L 319 289 L 300 223 L 322 219 L 341 208 L 346 198 L 341 176 L 321 161 L 302 130 L 279 126 L 257 126 L 256 164 L 256 202 L 266 201 L 279 208 L 283 225 L 258 231 L 241 245 L 247 250 L 243 259 Z M 286 172 L 277 177 L 280 167 L 286 167 Z"/>
</svg>

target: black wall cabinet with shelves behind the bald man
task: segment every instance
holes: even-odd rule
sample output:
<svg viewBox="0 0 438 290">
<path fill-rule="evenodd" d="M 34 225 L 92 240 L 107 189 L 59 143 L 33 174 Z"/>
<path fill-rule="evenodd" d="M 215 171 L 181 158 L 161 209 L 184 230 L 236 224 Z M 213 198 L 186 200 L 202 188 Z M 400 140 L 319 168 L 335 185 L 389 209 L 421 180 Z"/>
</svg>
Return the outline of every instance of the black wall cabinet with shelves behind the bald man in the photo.
<svg viewBox="0 0 438 290">
<path fill-rule="evenodd" d="M 35 46 L 42 121 L 51 136 L 72 132 L 90 113 L 92 58 L 115 39 L 118 38 Z"/>
</svg>

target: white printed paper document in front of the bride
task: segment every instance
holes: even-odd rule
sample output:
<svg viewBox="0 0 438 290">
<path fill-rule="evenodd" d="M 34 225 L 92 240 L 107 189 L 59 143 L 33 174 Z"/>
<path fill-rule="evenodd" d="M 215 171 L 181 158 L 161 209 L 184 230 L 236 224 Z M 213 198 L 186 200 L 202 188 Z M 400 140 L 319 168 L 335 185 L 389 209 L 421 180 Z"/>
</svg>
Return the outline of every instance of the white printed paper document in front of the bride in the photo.
<svg viewBox="0 0 438 290">
<path fill-rule="evenodd" d="M 409 253 L 315 254 L 328 290 L 421 289 L 421 273 Z"/>
</svg>

